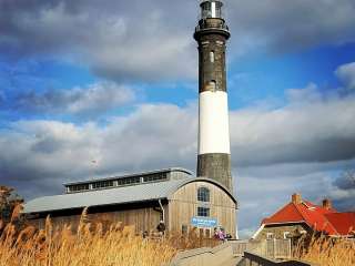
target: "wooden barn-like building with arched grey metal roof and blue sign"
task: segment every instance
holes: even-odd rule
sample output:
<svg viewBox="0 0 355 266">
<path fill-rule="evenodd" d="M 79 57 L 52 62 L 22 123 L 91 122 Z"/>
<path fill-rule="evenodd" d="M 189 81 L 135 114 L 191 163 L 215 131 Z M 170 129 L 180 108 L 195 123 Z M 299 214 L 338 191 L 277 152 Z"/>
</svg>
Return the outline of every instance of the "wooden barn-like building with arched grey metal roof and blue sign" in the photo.
<svg viewBox="0 0 355 266">
<path fill-rule="evenodd" d="M 236 201 L 219 182 L 193 177 L 184 168 L 64 184 L 65 194 L 39 197 L 24 206 L 31 223 L 40 228 L 51 216 L 55 226 L 78 225 L 83 208 L 93 222 L 122 222 L 136 233 L 153 232 L 163 221 L 169 232 L 186 233 L 193 227 L 211 236 L 222 226 L 236 235 Z"/>
</svg>

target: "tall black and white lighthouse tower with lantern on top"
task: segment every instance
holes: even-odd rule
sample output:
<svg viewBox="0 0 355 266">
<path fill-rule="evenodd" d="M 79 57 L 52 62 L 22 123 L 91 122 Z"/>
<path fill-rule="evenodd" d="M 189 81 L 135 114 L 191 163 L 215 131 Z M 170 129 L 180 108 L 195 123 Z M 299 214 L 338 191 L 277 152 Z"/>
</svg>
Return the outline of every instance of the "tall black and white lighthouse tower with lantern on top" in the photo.
<svg viewBox="0 0 355 266">
<path fill-rule="evenodd" d="M 225 49 L 230 39 L 221 0 L 201 1 L 194 39 L 199 43 L 197 176 L 219 181 L 233 193 Z"/>
</svg>

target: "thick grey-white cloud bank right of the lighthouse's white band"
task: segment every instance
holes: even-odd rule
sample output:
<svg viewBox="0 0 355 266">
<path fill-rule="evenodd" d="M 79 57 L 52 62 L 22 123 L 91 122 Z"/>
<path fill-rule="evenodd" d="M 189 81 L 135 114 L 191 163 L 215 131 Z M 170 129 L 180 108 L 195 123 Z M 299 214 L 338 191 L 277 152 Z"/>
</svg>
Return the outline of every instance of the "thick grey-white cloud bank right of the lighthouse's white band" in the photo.
<svg viewBox="0 0 355 266">
<path fill-rule="evenodd" d="M 304 91 L 305 90 L 305 91 Z M 240 166 L 345 161 L 355 157 L 355 98 L 298 94 L 276 110 L 231 113 L 232 151 Z M 295 94 L 295 92 L 293 92 Z"/>
</svg>

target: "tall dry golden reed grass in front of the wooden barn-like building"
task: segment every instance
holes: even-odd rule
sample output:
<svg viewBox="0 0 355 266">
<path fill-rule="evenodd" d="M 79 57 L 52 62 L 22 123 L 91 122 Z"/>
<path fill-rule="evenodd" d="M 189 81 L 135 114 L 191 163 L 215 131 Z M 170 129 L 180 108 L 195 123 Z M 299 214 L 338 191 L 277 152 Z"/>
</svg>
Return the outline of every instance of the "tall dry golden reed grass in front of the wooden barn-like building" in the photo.
<svg viewBox="0 0 355 266">
<path fill-rule="evenodd" d="M 134 228 L 111 226 L 108 232 L 98 224 L 55 228 L 47 219 L 45 229 L 28 226 L 16 232 L 7 225 L 0 238 L 0 266 L 160 266 L 176 254 L 168 241 L 143 239 Z"/>
</svg>

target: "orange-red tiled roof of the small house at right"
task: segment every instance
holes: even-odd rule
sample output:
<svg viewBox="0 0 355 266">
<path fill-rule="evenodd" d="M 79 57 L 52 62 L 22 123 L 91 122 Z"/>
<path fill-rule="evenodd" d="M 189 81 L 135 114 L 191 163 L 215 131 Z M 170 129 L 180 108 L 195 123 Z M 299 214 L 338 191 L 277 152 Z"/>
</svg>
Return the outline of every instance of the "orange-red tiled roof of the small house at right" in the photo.
<svg viewBox="0 0 355 266">
<path fill-rule="evenodd" d="M 351 227 L 355 228 L 355 213 L 338 213 L 335 208 L 318 206 L 307 201 L 293 201 L 264 218 L 262 226 L 290 223 L 304 223 L 317 232 L 346 236 Z"/>
</svg>

